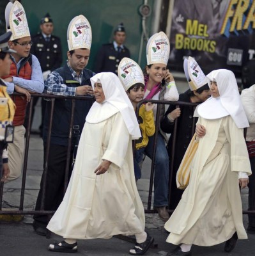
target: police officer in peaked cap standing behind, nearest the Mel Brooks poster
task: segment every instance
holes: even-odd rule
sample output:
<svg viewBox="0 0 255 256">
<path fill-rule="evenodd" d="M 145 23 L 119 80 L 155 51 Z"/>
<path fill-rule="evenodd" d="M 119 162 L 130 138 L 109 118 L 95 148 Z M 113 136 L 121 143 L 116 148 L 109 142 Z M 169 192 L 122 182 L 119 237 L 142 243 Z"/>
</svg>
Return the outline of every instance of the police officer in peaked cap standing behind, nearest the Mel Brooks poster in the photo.
<svg viewBox="0 0 255 256">
<path fill-rule="evenodd" d="M 102 45 L 95 61 L 95 72 L 112 72 L 118 75 L 118 65 L 124 58 L 130 58 L 130 52 L 125 47 L 126 32 L 123 23 L 114 30 L 114 41 Z"/>
</svg>

